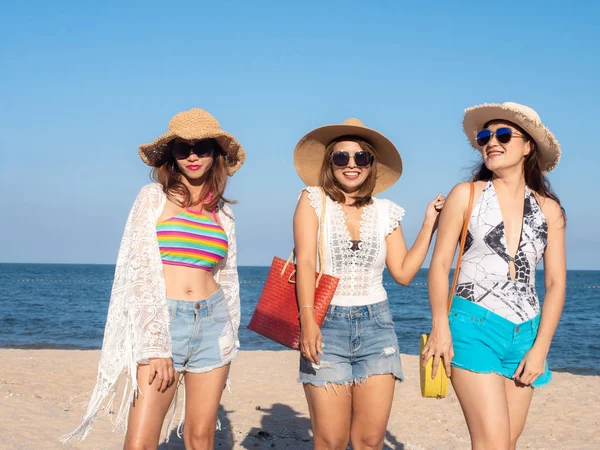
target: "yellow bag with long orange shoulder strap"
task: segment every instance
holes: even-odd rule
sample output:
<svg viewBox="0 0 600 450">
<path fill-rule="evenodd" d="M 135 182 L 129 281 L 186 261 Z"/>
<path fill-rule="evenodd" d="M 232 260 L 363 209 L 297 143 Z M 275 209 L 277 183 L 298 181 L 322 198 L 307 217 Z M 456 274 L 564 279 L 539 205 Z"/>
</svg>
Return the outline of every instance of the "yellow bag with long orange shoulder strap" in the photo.
<svg viewBox="0 0 600 450">
<path fill-rule="evenodd" d="M 471 210 L 473 209 L 473 197 L 475 196 L 475 185 L 469 183 L 471 186 L 471 195 L 469 197 L 469 206 L 467 207 L 467 217 L 463 224 L 463 229 L 460 238 L 460 248 L 458 251 L 458 259 L 456 261 L 456 268 L 454 269 L 454 279 L 452 281 L 452 288 L 450 289 L 450 295 L 448 297 L 448 312 L 452 306 L 452 296 L 454 295 L 454 289 L 456 289 L 456 282 L 458 281 L 458 270 L 460 269 L 460 262 L 462 260 L 462 254 L 465 249 L 465 242 L 467 241 L 467 230 L 469 228 L 469 219 L 471 218 Z M 427 344 L 429 339 L 428 334 L 421 335 L 421 344 L 419 345 L 419 354 L 423 351 L 423 347 Z M 448 375 L 446 375 L 446 367 L 444 361 L 440 360 L 438 371 L 435 374 L 435 378 L 431 378 L 433 372 L 433 357 L 429 358 L 427 364 L 423 366 L 419 362 L 419 375 L 421 378 L 421 395 L 426 398 L 444 398 L 448 394 Z"/>
</svg>

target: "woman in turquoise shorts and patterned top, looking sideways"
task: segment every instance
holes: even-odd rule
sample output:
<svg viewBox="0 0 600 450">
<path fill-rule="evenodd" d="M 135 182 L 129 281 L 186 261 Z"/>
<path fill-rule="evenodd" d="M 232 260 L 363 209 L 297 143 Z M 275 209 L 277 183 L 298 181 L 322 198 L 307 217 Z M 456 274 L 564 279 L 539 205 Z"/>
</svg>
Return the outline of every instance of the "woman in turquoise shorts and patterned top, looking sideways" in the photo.
<svg viewBox="0 0 600 450">
<path fill-rule="evenodd" d="M 545 176 L 561 150 L 538 114 L 517 103 L 469 108 L 463 126 L 482 157 L 475 202 L 449 316 L 448 273 L 468 183 L 454 187 L 440 217 L 429 270 L 432 331 L 422 357 L 424 364 L 434 358 L 434 375 L 440 358 L 452 370 L 473 448 L 514 449 L 533 388 L 550 381 L 546 355 L 565 300 L 565 214 Z"/>
</svg>

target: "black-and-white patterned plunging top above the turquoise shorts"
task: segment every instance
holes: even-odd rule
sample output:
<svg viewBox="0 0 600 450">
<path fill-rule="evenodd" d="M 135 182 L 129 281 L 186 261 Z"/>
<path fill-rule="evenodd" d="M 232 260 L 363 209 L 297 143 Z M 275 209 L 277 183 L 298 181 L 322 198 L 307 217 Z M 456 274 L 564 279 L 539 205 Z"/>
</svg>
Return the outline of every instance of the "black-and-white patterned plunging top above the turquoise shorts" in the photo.
<svg viewBox="0 0 600 450">
<path fill-rule="evenodd" d="M 511 257 L 494 184 L 489 181 L 471 213 L 467 241 L 455 294 L 510 320 L 521 323 L 540 312 L 535 269 L 548 243 L 548 224 L 528 186 L 521 238 Z M 510 262 L 515 265 L 515 278 Z"/>
</svg>

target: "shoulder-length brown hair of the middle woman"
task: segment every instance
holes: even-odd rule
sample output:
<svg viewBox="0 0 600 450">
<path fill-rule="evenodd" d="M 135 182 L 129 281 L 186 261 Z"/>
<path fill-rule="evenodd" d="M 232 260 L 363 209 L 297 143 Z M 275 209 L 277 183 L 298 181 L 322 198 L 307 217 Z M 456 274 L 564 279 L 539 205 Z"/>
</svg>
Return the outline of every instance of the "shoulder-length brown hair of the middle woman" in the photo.
<svg viewBox="0 0 600 450">
<path fill-rule="evenodd" d="M 321 186 L 325 193 L 336 202 L 344 203 L 346 201 L 344 190 L 333 175 L 333 164 L 331 163 L 331 154 L 333 153 L 335 145 L 343 141 L 356 142 L 360 145 L 361 149 L 368 151 L 373 157 L 367 179 L 359 186 L 356 196 L 354 197 L 354 203 L 352 204 L 352 206 L 360 208 L 371 203 L 375 182 L 377 181 L 377 153 L 375 153 L 373 146 L 364 139 L 357 136 L 341 136 L 329 143 L 325 149 L 325 156 L 323 157 L 323 163 L 321 164 L 319 186 Z"/>
</svg>

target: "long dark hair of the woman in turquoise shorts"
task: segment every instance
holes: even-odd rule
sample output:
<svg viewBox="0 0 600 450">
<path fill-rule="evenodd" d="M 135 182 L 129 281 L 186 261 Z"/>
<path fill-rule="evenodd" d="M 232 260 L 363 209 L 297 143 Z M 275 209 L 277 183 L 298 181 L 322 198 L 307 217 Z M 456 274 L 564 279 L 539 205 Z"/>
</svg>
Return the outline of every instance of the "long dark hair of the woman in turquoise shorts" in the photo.
<svg viewBox="0 0 600 450">
<path fill-rule="evenodd" d="M 527 156 L 525 156 L 525 164 L 523 165 L 523 173 L 525 175 L 525 184 L 527 184 L 527 186 L 529 186 L 529 188 L 531 190 L 535 191 L 539 195 L 546 197 L 546 198 L 550 198 L 550 199 L 554 200 L 556 203 L 558 203 L 558 206 L 560 206 L 560 209 L 561 209 L 562 215 L 563 215 L 563 219 L 566 224 L 567 213 L 565 211 L 565 208 L 563 208 L 562 204 L 560 203 L 558 196 L 552 189 L 552 186 L 550 185 L 550 180 L 548 180 L 548 177 L 546 175 L 544 175 L 544 173 L 542 172 L 542 169 L 540 168 L 538 148 L 537 148 L 537 144 L 535 143 L 533 138 L 529 134 L 527 134 L 527 132 L 523 128 L 521 128 L 517 124 L 514 124 L 514 123 L 506 121 L 506 120 L 490 120 L 488 123 L 486 123 L 483 126 L 483 128 L 487 128 L 488 126 L 490 126 L 491 124 L 494 124 L 494 123 L 501 123 L 501 124 L 506 124 L 506 125 L 510 125 L 511 127 L 514 127 L 515 129 L 517 129 L 519 131 L 519 133 L 521 133 L 523 135 L 525 142 L 529 142 L 529 145 L 531 146 L 531 151 L 529 152 L 529 154 Z M 482 163 L 477 164 L 473 168 L 473 176 L 471 178 L 471 181 L 489 181 L 492 179 L 493 175 L 494 175 L 494 172 L 492 172 L 490 169 L 488 169 L 486 167 L 485 163 L 482 162 Z"/>
</svg>

